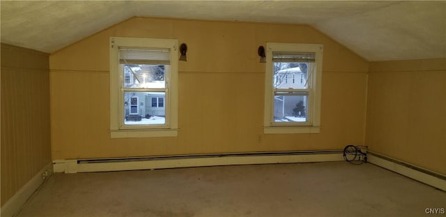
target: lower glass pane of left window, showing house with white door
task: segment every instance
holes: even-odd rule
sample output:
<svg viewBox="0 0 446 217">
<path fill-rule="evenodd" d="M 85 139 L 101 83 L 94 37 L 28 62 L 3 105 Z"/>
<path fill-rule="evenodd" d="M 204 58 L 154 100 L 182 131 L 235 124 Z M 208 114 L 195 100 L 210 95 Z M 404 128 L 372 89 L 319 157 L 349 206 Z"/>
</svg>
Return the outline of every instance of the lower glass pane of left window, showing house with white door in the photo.
<svg viewBox="0 0 446 217">
<path fill-rule="evenodd" d="M 124 91 L 124 124 L 165 124 L 165 97 L 165 92 Z"/>
</svg>

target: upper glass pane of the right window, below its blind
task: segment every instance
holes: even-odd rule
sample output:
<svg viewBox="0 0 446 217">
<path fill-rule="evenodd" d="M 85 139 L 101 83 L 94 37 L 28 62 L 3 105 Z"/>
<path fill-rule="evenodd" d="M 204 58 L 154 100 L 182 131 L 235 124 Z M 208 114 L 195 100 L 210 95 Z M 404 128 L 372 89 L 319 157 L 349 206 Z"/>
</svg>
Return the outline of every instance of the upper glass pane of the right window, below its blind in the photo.
<svg viewBox="0 0 446 217">
<path fill-rule="evenodd" d="M 307 89 L 308 66 L 310 64 L 311 63 L 274 62 L 274 73 L 272 74 L 273 88 Z"/>
</svg>

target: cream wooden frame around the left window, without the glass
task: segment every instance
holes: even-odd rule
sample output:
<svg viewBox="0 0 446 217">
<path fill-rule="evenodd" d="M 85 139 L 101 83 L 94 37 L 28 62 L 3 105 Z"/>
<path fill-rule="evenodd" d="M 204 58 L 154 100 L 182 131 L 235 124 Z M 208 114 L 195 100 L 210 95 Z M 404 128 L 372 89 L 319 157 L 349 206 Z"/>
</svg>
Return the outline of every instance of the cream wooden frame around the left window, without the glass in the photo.
<svg viewBox="0 0 446 217">
<path fill-rule="evenodd" d="M 166 123 L 162 126 L 125 125 L 123 114 L 123 83 L 125 75 L 119 61 L 119 47 L 167 48 L 170 50 L 169 73 L 166 82 L 164 107 Z M 123 137 L 176 137 L 178 136 L 178 40 L 154 38 L 110 38 L 110 136 Z"/>
</svg>

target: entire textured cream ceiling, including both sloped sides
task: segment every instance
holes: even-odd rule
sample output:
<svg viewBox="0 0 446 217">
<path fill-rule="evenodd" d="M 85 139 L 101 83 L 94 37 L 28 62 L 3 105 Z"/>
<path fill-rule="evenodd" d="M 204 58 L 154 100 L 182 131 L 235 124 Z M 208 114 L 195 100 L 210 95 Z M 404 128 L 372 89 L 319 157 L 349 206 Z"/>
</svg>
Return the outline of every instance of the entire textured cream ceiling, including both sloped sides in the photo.
<svg viewBox="0 0 446 217">
<path fill-rule="evenodd" d="M 133 16 L 309 24 L 368 61 L 446 58 L 446 1 L 1 1 L 1 42 L 51 53 Z"/>
</svg>

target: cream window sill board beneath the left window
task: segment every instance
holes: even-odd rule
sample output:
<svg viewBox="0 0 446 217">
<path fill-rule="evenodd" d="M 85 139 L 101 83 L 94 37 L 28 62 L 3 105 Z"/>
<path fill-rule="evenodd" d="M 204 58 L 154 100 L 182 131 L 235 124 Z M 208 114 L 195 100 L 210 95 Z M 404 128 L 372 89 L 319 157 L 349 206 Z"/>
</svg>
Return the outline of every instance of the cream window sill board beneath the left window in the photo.
<svg viewBox="0 0 446 217">
<path fill-rule="evenodd" d="M 113 138 L 143 138 L 143 137 L 177 137 L 178 129 L 156 130 L 110 130 Z"/>
</svg>

